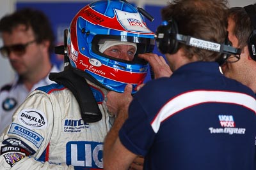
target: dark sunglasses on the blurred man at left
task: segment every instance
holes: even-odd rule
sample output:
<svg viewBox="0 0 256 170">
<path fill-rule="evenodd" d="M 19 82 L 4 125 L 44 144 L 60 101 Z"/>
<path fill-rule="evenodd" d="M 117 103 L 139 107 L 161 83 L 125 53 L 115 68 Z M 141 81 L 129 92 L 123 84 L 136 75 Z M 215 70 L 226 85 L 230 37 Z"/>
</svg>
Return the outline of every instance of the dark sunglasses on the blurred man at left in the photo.
<svg viewBox="0 0 256 170">
<path fill-rule="evenodd" d="M 34 39 L 33 41 L 29 41 L 26 44 L 16 44 L 16 45 L 10 45 L 10 46 L 2 46 L 0 48 L 0 53 L 1 55 L 3 55 L 3 57 L 8 57 L 10 56 L 10 53 L 13 52 L 16 55 L 23 55 L 24 53 L 26 53 L 26 48 L 28 45 L 30 45 L 31 43 L 35 43 L 36 39 Z"/>
</svg>

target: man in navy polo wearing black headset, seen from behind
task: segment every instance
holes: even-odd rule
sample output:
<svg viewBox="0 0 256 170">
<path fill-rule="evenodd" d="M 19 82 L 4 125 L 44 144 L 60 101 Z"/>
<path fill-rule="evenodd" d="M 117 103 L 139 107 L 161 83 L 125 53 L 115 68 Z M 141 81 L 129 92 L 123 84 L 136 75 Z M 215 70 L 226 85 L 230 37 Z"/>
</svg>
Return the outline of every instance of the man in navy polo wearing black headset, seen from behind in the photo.
<svg viewBox="0 0 256 170">
<path fill-rule="evenodd" d="M 104 169 L 128 169 L 137 155 L 144 169 L 255 169 L 255 94 L 215 62 L 241 53 L 225 43 L 227 4 L 176 0 L 163 8 L 156 41 L 173 74 L 148 81 L 133 97 L 131 85 L 108 93 L 116 120 L 104 142 Z"/>
</svg>

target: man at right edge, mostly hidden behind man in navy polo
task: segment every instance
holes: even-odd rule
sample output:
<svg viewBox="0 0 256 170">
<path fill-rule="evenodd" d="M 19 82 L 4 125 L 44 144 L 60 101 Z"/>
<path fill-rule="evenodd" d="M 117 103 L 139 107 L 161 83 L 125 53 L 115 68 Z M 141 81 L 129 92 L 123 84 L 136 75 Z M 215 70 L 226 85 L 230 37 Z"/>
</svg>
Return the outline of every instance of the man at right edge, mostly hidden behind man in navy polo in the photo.
<svg viewBox="0 0 256 170">
<path fill-rule="evenodd" d="M 228 38 L 233 46 L 241 48 L 241 59 L 221 66 L 228 78 L 240 81 L 256 94 L 256 4 L 233 7 L 228 10 Z"/>
</svg>

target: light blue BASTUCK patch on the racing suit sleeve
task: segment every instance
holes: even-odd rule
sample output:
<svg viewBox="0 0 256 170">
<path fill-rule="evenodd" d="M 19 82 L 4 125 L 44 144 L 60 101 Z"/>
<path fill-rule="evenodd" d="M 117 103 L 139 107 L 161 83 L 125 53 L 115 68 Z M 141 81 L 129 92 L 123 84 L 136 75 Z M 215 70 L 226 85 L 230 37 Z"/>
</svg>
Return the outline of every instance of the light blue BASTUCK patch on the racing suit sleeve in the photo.
<svg viewBox="0 0 256 170">
<path fill-rule="evenodd" d="M 22 138 L 27 139 L 28 141 L 33 143 L 37 148 L 39 148 L 42 145 L 42 142 L 44 141 L 44 138 L 40 136 L 40 134 L 15 123 L 12 123 L 8 133 L 17 134 Z"/>
</svg>

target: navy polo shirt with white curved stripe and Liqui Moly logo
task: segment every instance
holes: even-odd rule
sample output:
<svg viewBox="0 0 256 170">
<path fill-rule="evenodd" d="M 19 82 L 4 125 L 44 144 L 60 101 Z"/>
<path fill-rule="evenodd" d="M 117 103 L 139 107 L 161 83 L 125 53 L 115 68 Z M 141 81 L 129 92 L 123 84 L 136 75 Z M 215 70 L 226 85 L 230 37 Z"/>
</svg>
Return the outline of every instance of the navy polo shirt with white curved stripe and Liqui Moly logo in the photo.
<svg viewBox="0 0 256 170">
<path fill-rule="evenodd" d="M 144 169 L 255 169 L 256 102 L 216 62 L 192 62 L 149 81 L 129 107 L 122 144 Z"/>
</svg>

